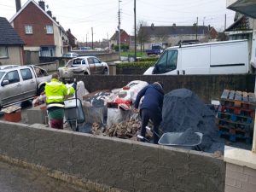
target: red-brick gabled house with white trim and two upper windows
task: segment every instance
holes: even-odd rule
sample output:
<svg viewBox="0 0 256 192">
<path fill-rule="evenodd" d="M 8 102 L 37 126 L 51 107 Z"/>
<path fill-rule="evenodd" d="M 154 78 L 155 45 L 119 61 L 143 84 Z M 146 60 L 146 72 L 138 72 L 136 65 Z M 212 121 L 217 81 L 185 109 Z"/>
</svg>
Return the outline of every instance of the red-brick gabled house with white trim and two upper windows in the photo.
<svg viewBox="0 0 256 192">
<path fill-rule="evenodd" d="M 26 44 L 26 63 L 38 62 L 38 56 L 61 56 L 67 45 L 65 30 L 45 11 L 44 1 L 38 3 L 28 0 L 9 20 Z"/>
</svg>

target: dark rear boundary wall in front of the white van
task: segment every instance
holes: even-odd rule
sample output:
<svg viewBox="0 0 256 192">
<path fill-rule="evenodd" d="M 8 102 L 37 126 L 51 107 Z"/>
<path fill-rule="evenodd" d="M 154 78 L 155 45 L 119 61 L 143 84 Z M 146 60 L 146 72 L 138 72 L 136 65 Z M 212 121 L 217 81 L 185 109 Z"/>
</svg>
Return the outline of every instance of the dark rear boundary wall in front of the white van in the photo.
<svg viewBox="0 0 256 192">
<path fill-rule="evenodd" d="M 210 103 L 212 99 L 219 100 L 224 89 L 254 92 L 255 75 L 87 75 L 77 76 L 84 81 L 84 86 L 90 92 L 96 90 L 111 90 L 120 88 L 133 80 L 143 80 L 148 83 L 161 81 L 164 90 L 186 88 L 195 92 L 202 101 Z"/>
</svg>

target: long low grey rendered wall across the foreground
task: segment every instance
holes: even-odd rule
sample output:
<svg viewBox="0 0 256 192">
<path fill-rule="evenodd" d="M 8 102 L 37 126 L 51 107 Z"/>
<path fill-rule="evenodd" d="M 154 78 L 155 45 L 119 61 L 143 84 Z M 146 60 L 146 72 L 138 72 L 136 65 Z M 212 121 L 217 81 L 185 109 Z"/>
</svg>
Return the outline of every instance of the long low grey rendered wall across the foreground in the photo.
<svg viewBox="0 0 256 192">
<path fill-rule="evenodd" d="M 40 124 L 0 121 L 0 155 L 102 184 L 108 191 L 224 192 L 223 158 Z"/>
</svg>

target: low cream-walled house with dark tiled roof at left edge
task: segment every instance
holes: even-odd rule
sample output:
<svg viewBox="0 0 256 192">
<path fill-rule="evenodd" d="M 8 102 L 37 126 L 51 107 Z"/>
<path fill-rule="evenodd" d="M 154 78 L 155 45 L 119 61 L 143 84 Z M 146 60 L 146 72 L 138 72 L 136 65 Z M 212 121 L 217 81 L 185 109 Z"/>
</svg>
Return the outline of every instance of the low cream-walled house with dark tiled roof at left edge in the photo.
<svg viewBox="0 0 256 192">
<path fill-rule="evenodd" d="M 24 41 L 4 17 L 0 17 L 0 34 L 0 65 L 23 65 Z"/>
</svg>

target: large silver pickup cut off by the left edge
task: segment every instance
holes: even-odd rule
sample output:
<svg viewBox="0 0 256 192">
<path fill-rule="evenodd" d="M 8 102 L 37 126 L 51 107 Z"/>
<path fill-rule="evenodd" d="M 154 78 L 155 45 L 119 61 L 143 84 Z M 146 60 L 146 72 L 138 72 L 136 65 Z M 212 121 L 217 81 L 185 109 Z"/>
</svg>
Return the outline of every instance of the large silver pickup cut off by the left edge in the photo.
<svg viewBox="0 0 256 192">
<path fill-rule="evenodd" d="M 0 70 L 0 109 L 24 102 L 44 91 L 49 75 L 37 66 L 19 66 Z"/>
</svg>

